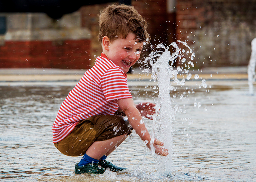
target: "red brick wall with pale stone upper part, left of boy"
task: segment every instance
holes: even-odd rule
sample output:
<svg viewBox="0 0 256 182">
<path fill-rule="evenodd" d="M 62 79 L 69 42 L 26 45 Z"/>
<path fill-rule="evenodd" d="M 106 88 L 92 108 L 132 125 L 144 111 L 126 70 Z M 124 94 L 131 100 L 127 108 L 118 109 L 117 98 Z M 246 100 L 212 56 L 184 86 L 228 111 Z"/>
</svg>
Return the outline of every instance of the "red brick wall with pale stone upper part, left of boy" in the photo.
<svg viewBox="0 0 256 182">
<path fill-rule="evenodd" d="M 90 31 L 74 12 L 53 20 L 44 13 L 7 13 L 0 36 L 0 68 L 91 67 Z"/>
</svg>

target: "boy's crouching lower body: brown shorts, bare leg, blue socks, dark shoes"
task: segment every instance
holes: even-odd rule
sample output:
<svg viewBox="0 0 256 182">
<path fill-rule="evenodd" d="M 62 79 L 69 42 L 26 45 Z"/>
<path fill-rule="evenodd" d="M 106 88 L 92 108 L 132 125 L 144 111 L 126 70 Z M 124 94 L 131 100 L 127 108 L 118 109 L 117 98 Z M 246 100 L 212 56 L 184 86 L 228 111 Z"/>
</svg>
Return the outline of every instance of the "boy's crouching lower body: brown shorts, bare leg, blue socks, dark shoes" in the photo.
<svg viewBox="0 0 256 182">
<path fill-rule="evenodd" d="M 102 174 L 106 168 L 121 171 L 126 168 L 114 166 L 105 160 L 105 155 L 112 153 L 127 138 L 131 130 L 120 115 L 92 116 L 79 122 L 63 141 L 54 145 L 61 153 L 69 156 L 83 155 L 83 151 L 86 151 L 82 160 L 75 166 L 76 174 Z M 100 164 L 97 163 L 98 161 Z"/>
</svg>

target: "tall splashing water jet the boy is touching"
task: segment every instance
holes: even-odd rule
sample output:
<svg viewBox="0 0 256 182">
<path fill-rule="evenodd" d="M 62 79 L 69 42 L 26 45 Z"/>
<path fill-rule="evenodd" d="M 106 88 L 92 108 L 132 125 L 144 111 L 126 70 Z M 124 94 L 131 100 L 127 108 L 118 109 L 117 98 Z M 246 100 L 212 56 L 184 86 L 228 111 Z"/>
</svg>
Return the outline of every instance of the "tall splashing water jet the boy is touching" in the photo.
<svg viewBox="0 0 256 182">
<path fill-rule="evenodd" d="M 187 55 L 191 54 L 189 57 L 191 60 L 195 57 L 195 54 L 188 46 L 187 43 L 179 41 L 186 46 L 189 51 L 186 52 Z M 175 52 L 171 54 L 169 50 L 170 46 L 175 48 Z M 173 69 L 173 63 L 176 59 L 181 60 L 181 64 L 185 64 L 186 59 L 184 58 L 185 50 L 178 47 L 178 45 L 173 42 L 168 47 L 163 44 L 159 44 L 157 48 L 161 48 L 164 51 L 151 52 L 147 61 L 149 60 L 152 66 L 152 75 L 154 82 L 158 81 L 159 95 L 156 102 L 156 114 L 153 116 L 153 131 L 152 139 L 150 141 L 150 146 L 153 148 L 154 138 L 159 139 L 164 143 L 164 147 L 168 149 L 169 155 L 167 157 L 162 157 L 154 155 L 155 150 L 151 150 L 152 155 L 154 155 L 155 162 L 157 164 L 157 170 L 161 175 L 169 176 L 172 174 L 172 122 L 175 120 L 175 114 L 179 110 L 176 106 L 172 106 L 172 98 L 170 96 L 170 90 L 176 90 L 172 86 L 176 83 L 178 86 L 185 85 L 185 78 L 179 80 L 177 78 L 178 71 L 182 71 L 184 67 L 177 67 L 177 70 Z M 188 67 L 190 65 L 194 67 L 194 64 L 189 61 Z M 187 67 L 187 65 L 185 66 Z M 187 74 L 187 79 L 191 78 L 191 74 L 188 74 L 188 70 L 184 69 Z M 205 84 L 205 82 L 204 82 Z"/>
</svg>

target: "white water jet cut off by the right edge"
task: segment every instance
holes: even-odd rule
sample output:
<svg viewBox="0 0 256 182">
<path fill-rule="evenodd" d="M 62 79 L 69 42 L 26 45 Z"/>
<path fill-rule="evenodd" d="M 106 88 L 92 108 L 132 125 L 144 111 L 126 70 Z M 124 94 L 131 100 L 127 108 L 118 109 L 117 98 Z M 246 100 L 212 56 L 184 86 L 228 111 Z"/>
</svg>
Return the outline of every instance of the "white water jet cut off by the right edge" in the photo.
<svg viewBox="0 0 256 182">
<path fill-rule="evenodd" d="M 252 40 L 252 54 L 248 64 L 248 85 L 249 85 L 249 94 L 253 95 L 253 82 L 255 82 L 255 64 L 256 64 L 256 38 Z"/>
</svg>

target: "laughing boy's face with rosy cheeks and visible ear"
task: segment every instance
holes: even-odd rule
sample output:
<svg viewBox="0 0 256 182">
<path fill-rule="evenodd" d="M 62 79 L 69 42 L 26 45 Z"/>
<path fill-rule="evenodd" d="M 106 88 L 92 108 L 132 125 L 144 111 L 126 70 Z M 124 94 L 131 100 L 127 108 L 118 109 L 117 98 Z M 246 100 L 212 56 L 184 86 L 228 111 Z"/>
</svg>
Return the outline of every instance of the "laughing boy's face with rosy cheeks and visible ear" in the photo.
<svg viewBox="0 0 256 182">
<path fill-rule="evenodd" d="M 129 33 L 126 39 L 118 37 L 111 43 L 107 39 L 107 36 L 102 39 L 103 54 L 127 73 L 129 68 L 140 58 L 143 42 L 139 43 L 138 39 L 135 40 L 133 33 Z"/>
</svg>

